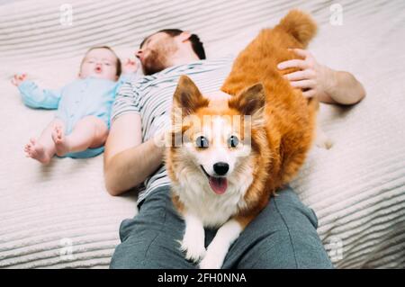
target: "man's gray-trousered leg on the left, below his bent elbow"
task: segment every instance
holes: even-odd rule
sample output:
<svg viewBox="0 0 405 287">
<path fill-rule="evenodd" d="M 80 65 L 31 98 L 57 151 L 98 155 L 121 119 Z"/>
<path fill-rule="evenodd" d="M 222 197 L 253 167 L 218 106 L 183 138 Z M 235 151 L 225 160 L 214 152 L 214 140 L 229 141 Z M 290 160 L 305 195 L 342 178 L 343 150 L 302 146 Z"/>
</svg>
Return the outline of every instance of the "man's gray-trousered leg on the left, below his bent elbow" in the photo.
<svg viewBox="0 0 405 287">
<path fill-rule="evenodd" d="M 195 268 L 185 260 L 176 242 L 183 238 L 184 221 L 173 207 L 169 188 L 149 194 L 139 214 L 122 221 L 121 244 L 112 256 L 111 268 Z"/>
</svg>

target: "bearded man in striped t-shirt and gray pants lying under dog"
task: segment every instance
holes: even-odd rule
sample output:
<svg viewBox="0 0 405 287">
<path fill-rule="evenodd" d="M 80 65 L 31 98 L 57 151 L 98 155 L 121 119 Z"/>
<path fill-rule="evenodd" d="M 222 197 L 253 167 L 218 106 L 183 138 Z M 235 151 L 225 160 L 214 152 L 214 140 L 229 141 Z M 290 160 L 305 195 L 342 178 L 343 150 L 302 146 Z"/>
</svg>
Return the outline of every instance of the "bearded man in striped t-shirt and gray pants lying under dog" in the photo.
<svg viewBox="0 0 405 287">
<path fill-rule="evenodd" d="M 354 104 L 365 97 L 355 76 L 320 65 L 309 51 L 295 49 L 304 59 L 279 64 L 299 67 L 287 75 L 305 96 L 323 103 Z M 119 195 L 139 188 L 139 214 L 124 220 L 113 268 L 195 268 L 175 243 L 183 237 L 184 221 L 173 208 L 169 179 L 162 165 L 162 131 L 170 123 L 172 97 L 181 75 L 193 77 L 204 93 L 218 91 L 233 58 L 205 60 L 202 42 L 180 30 L 158 31 L 140 45 L 137 57 L 145 76 L 123 85 L 112 108 L 112 127 L 105 145 L 107 190 Z M 287 188 L 270 201 L 229 249 L 223 268 L 330 268 L 317 234 L 317 218 Z M 211 234 L 211 235 L 210 235 Z M 206 230 L 208 245 L 214 235 Z"/>
</svg>

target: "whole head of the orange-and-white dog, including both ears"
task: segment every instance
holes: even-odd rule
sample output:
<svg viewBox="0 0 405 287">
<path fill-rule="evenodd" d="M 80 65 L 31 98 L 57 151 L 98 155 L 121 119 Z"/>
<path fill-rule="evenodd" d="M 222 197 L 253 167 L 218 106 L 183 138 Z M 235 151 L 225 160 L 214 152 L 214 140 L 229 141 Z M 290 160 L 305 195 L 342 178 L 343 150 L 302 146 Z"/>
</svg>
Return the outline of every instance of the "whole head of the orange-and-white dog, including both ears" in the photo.
<svg viewBox="0 0 405 287">
<path fill-rule="evenodd" d="M 177 147 L 171 149 L 172 164 L 181 171 L 179 181 L 194 178 L 216 194 L 240 192 L 252 180 L 258 157 L 252 129 L 263 122 L 263 87 L 255 85 L 230 99 L 215 97 L 210 101 L 190 78 L 180 78 L 174 96 Z"/>
</svg>

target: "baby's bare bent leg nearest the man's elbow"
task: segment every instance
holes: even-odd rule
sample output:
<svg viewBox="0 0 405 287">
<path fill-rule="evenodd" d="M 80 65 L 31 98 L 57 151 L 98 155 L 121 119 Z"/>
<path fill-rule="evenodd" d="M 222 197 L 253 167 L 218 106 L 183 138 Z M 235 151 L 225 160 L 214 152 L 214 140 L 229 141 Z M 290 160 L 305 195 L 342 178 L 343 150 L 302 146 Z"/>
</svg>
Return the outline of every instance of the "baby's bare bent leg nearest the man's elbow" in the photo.
<svg viewBox="0 0 405 287">
<path fill-rule="evenodd" d="M 59 157 L 71 152 L 84 151 L 87 148 L 99 148 L 103 146 L 107 136 L 107 125 L 95 116 L 86 116 L 77 121 L 75 128 L 68 136 L 60 127 L 56 127 L 52 132 L 52 139 Z"/>
</svg>

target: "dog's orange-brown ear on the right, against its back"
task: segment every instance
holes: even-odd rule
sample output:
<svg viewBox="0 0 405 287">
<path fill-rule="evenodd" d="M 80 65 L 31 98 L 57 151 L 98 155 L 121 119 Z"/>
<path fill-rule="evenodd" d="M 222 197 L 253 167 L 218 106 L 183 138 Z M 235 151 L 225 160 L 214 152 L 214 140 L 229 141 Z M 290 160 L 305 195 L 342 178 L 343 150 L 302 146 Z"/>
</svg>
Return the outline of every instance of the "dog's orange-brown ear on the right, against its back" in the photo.
<svg viewBox="0 0 405 287">
<path fill-rule="evenodd" d="M 265 88 L 262 84 L 247 87 L 237 96 L 231 98 L 228 106 L 243 115 L 261 117 L 266 103 Z"/>
</svg>

